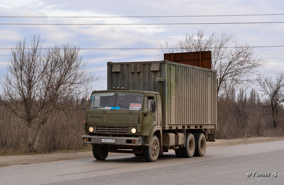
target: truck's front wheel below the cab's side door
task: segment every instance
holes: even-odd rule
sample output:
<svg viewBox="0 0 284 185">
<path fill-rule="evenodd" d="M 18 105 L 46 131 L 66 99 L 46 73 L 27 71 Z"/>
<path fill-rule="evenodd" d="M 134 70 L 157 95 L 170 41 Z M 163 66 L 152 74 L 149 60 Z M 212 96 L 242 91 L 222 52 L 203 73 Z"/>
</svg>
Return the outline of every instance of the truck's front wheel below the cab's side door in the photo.
<svg viewBox="0 0 284 185">
<path fill-rule="evenodd" d="M 150 146 L 144 148 L 144 158 L 147 162 L 154 162 L 158 159 L 160 144 L 158 137 L 153 135 Z"/>
</svg>

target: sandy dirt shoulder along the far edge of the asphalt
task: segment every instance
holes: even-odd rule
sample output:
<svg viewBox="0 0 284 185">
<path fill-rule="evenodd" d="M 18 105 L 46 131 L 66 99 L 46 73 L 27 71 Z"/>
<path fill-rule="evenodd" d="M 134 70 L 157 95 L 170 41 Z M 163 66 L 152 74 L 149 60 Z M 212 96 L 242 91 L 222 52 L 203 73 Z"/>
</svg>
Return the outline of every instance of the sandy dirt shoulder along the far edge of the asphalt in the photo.
<svg viewBox="0 0 284 185">
<path fill-rule="evenodd" d="M 262 142 L 282 141 L 284 137 L 252 137 L 240 139 L 218 139 L 216 142 L 207 142 L 207 148 L 234 146 L 242 144 L 253 144 Z M 109 153 L 108 156 L 116 155 L 133 155 L 133 154 L 118 154 Z M 0 156 L 0 167 L 26 165 L 36 163 L 48 163 L 55 161 L 73 160 L 93 158 L 92 152 L 75 152 L 75 153 L 56 153 L 56 154 L 38 154 L 38 155 L 11 155 Z"/>
</svg>

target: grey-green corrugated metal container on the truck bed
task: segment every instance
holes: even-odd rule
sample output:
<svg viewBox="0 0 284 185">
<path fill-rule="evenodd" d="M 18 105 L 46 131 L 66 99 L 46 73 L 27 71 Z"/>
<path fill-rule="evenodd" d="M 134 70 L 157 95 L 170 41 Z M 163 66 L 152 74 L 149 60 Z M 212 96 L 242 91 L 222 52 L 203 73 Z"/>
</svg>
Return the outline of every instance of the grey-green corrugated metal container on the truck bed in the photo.
<svg viewBox="0 0 284 185">
<path fill-rule="evenodd" d="M 167 60 L 108 62 L 107 89 L 159 92 L 162 83 L 162 128 L 216 128 L 216 71 Z M 191 127 L 194 125 L 194 127 Z M 204 125 L 204 126 L 201 126 Z"/>
</svg>

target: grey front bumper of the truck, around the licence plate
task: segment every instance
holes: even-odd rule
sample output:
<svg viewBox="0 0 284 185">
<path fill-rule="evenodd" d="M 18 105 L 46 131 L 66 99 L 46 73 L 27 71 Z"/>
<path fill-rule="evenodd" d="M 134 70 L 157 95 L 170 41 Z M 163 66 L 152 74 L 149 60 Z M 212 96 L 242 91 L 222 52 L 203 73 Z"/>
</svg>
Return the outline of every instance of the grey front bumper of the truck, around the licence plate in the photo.
<svg viewBox="0 0 284 185">
<path fill-rule="evenodd" d="M 87 141 L 84 141 L 83 138 L 87 138 Z M 114 139 L 115 143 L 105 143 L 102 142 L 102 139 Z M 132 144 L 130 141 L 135 140 L 135 143 Z M 81 136 L 81 142 L 90 143 L 90 144 L 115 144 L 115 145 L 130 145 L 130 146 L 140 146 L 142 145 L 142 138 L 140 137 L 105 137 L 105 136 Z"/>
</svg>

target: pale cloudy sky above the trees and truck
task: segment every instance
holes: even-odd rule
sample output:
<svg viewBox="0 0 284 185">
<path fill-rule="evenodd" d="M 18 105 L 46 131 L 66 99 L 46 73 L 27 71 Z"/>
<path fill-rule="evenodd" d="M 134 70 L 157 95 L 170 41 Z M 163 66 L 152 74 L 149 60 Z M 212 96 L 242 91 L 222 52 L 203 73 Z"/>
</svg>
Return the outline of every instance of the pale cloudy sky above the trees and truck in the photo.
<svg viewBox="0 0 284 185">
<path fill-rule="evenodd" d="M 107 62 L 153 61 L 157 60 L 155 56 L 159 53 L 156 49 L 106 50 L 102 48 L 158 48 L 158 41 L 162 43 L 167 41 L 170 45 L 176 44 L 185 38 L 186 33 L 196 34 L 198 30 L 204 30 L 206 37 L 213 32 L 218 35 L 222 31 L 227 31 L 228 33 L 234 33 L 236 35 L 235 39 L 239 43 L 256 46 L 254 53 L 268 61 L 264 68 L 259 69 L 259 72 L 264 75 L 275 76 L 281 71 L 284 72 L 284 47 L 258 46 L 284 46 L 284 23 L 252 24 L 251 22 L 284 22 L 284 15 L 259 15 L 284 14 L 283 10 L 283 1 L 277 0 L 0 0 L 0 79 L 3 80 L 3 74 L 6 73 L 11 48 L 20 39 L 30 40 L 34 34 L 40 34 L 41 38 L 46 39 L 45 43 L 48 45 L 49 43 L 72 42 L 74 45 L 80 46 L 82 55 L 84 55 L 84 62 L 88 63 L 88 70 L 100 77 L 98 81 L 91 84 L 93 89 L 99 90 L 106 89 L 107 86 Z M 212 16 L 252 14 L 254 16 Z M 250 22 L 250 24 L 200 24 L 244 22 Z M 90 48 L 100 48 L 100 50 Z"/>
</svg>

